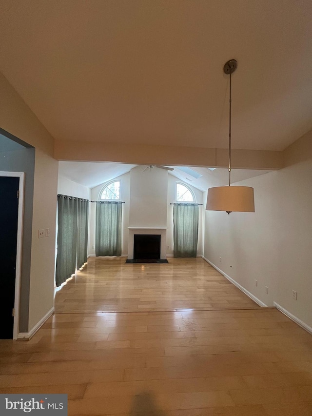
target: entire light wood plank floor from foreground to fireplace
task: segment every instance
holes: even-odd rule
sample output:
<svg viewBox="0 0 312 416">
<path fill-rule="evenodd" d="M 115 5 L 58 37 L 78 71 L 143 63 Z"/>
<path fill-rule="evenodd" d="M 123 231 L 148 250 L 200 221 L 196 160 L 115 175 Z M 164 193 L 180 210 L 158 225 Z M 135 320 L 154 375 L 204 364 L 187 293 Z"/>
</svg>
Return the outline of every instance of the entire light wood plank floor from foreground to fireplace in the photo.
<svg viewBox="0 0 312 416">
<path fill-rule="evenodd" d="M 85 269 L 64 286 L 61 313 L 30 341 L 0 341 L 0 393 L 67 393 L 70 416 L 312 415 L 312 336 L 289 318 L 251 303 L 202 259 L 148 265 L 146 275 L 129 264 L 124 276 L 119 260 L 101 260 L 87 266 L 90 282 Z M 136 311 L 148 286 L 154 312 L 84 312 L 107 310 L 107 285 L 112 309 Z M 209 310 L 187 311 L 196 299 Z"/>
</svg>

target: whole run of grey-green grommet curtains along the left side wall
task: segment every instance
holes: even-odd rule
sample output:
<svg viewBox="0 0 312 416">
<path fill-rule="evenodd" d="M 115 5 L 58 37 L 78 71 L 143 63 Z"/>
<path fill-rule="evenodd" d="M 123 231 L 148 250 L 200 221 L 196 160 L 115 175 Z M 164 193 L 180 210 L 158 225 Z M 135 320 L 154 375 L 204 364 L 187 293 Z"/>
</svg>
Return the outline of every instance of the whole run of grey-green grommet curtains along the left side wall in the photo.
<svg viewBox="0 0 312 416">
<path fill-rule="evenodd" d="M 88 199 L 58 195 L 57 286 L 87 261 L 88 204 Z"/>
</svg>

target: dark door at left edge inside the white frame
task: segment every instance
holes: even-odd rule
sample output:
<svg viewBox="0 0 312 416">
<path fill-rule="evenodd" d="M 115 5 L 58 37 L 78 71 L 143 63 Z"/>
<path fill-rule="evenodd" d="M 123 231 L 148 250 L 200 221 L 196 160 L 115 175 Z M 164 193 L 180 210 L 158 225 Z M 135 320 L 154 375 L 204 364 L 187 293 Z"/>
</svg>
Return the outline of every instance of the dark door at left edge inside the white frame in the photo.
<svg viewBox="0 0 312 416">
<path fill-rule="evenodd" d="M 20 178 L 0 176 L 0 338 L 13 338 Z"/>
</svg>

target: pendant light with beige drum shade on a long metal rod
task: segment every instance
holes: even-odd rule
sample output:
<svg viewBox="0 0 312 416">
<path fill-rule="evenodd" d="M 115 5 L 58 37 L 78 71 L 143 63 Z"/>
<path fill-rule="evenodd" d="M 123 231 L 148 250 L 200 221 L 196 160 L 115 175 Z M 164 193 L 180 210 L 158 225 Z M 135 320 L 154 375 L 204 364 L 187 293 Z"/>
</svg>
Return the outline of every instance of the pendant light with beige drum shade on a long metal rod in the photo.
<svg viewBox="0 0 312 416">
<path fill-rule="evenodd" d="M 223 67 L 230 75 L 230 114 L 229 114 L 229 185 L 208 189 L 206 210 L 254 212 L 254 188 L 249 186 L 231 186 L 231 111 L 232 111 L 232 74 L 237 68 L 237 61 L 231 59 Z"/>
</svg>

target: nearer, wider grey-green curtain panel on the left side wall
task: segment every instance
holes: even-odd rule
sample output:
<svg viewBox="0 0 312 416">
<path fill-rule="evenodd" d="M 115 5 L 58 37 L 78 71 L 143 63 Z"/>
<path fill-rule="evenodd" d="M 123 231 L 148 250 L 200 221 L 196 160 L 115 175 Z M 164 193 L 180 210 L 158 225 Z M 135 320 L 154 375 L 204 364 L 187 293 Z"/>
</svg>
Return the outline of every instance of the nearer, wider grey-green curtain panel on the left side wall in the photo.
<svg viewBox="0 0 312 416">
<path fill-rule="evenodd" d="M 58 195 L 58 254 L 56 285 L 60 286 L 76 270 L 77 203 L 75 198 Z"/>
</svg>

